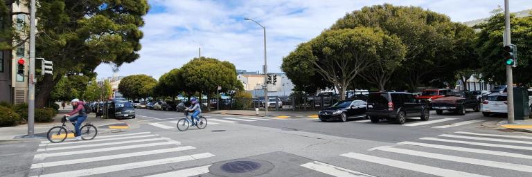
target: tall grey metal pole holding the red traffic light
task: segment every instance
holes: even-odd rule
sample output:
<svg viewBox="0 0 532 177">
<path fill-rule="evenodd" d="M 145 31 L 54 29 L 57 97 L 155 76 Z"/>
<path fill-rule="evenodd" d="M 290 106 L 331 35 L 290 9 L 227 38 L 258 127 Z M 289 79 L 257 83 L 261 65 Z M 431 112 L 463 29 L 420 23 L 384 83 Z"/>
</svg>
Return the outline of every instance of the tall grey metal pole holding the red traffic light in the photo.
<svg viewBox="0 0 532 177">
<path fill-rule="evenodd" d="M 34 137 L 35 123 L 35 0 L 30 2 L 30 75 L 28 76 L 28 138 Z"/>
</svg>

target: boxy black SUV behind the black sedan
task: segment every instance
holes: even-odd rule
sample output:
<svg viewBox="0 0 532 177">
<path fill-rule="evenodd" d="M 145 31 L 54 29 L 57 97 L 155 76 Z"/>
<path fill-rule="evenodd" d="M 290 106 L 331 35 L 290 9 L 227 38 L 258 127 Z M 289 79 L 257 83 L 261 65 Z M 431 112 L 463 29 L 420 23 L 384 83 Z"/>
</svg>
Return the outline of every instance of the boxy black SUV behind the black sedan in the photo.
<svg viewBox="0 0 532 177">
<path fill-rule="evenodd" d="M 369 93 L 366 115 L 373 123 L 388 119 L 405 124 L 407 118 L 418 116 L 421 120 L 429 120 L 429 104 L 417 100 L 412 93 Z"/>
</svg>

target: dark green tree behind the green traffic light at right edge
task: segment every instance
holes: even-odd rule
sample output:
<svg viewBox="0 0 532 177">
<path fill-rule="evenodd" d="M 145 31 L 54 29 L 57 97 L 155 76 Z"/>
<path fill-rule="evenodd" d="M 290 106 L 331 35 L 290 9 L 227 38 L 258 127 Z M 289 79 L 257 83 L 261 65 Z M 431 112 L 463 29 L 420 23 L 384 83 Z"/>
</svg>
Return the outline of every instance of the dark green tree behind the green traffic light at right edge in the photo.
<svg viewBox="0 0 532 177">
<path fill-rule="evenodd" d="M 517 67 L 513 68 L 513 82 L 521 85 L 531 84 L 532 75 L 532 17 L 516 18 L 511 15 L 511 41 L 517 46 Z M 506 65 L 502 57 L 504 14 L 497 13 L 483 24 L 480 29 L 476 48 L 481 57 L 480 72 L 487 82 L 505 83 Z"/>
</svg>

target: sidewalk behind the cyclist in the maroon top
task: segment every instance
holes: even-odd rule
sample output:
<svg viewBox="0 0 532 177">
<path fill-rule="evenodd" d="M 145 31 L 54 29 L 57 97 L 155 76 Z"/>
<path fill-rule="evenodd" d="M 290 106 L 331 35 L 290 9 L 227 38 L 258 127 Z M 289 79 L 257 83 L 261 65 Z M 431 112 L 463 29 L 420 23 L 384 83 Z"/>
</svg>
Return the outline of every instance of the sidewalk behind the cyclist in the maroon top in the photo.
<svg viewBox="0 0 532 177">
<path fill-rule="evenodd" d="M 67 106 L 68 107 L 68 106 Z M 38 140 L 46 139 L 46 133 L 49 129 L 55 126 L 61 126 L 61 118 L 65 113 L 69 113 L 68 109 L 59 109 L 59 113 L 55 115 L 55 118 L 53 122 L 47 122 L 47 123 L 35 123 L 34 132 L 35 136 L 38 136 Z M 103 133 L 110 133 L 112 129 L 109 129 L 109 124 L 124 124 L 124 122 L 121 122 L 120 120 L 115 119 L 102 119 L 102 118 L 96 118 L 96 114 L 90 113 L 89 117 L 85 122 L 90 122 L 91 124 L 94 124 L 98 128 L 98 135 Z M 84 122 L 84 123 L 85 123 Z M 73 129 L 73 126 L 71 124 L 67 125 L 71 129 Z M 28 138 L 22 138 L 23 136 L 26 136 L 28 134 L 28 124 L 20 124 L 17 127 L 0 127 L 0 141 L 1 140 L 35 140 L 35 139 L 28 139 Z"/>
</svg>

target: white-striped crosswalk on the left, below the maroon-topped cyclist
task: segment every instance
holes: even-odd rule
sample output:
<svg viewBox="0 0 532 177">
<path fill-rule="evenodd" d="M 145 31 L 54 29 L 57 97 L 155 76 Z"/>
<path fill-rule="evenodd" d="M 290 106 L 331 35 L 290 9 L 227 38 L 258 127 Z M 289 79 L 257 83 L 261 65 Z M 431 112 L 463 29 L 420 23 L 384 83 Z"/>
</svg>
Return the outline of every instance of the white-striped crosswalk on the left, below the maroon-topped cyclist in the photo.
<svg viewBox="0 0 532 177">
<path fill-rule="evenodd" d="M 155 173 L 146 169 L 214 156 L 151 132 L 98 136 L 88 141 L 43 141 L 35 153 L 28 176 L 194 176 L 208 172 L 206 167 L 209 166 Z"/>
</svg>

